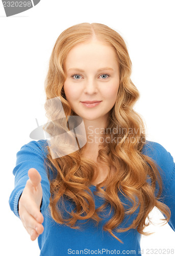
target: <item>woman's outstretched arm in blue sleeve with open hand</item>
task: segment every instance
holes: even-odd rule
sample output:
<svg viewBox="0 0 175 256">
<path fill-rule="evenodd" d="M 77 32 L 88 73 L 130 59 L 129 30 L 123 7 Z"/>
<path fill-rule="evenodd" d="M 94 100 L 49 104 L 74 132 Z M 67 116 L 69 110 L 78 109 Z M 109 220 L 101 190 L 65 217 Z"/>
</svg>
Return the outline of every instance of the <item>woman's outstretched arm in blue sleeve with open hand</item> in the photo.
<svg viewBox="0 0 175 256">
<path fill-rule="evenodd" d="M 44 167 L 43 142 L 31 141 L 17 152 L 13 169 L 15 187 L 9 199 L 11 210 L 21 219 L 27 231 L 30 234 L 34 231 L 32 240 L 43 232 L 43 213 L 51 196 Z"/>
</svg>

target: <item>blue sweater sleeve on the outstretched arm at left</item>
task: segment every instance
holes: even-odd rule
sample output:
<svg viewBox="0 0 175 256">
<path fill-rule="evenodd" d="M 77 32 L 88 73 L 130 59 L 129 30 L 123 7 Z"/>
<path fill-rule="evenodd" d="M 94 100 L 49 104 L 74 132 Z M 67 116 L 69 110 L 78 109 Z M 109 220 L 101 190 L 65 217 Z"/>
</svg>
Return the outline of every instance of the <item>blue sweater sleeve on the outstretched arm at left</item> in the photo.
<svg viewBox="0 0 175 256">
<path fill-rule="evenodd" d="M 15 182 L 14 189 L 9 198 L 9 205 L 18 218 L 20 218 L 18 214 L 18 201 L 29 179 L 28 170 L 30 168 L 37 169 L 41 175 L 42 201 L 40 211 L 42 214 L 49 205 L 49 198 L 51 196 L 50 186 L 44 167 L 45 154 L 40 142 L 41 140 L 38 142 L 30 141 L 28 144 L 23 145 L 16 154 L 16 166 L 13 169 Z"/>
</svg>

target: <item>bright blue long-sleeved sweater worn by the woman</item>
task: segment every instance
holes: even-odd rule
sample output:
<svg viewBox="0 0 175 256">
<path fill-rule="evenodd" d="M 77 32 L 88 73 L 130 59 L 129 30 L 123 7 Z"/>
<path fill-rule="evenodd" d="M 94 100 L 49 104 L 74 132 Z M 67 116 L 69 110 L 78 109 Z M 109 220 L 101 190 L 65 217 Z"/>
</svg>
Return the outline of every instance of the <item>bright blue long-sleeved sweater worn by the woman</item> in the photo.
<svg viewBox="0 0 175 256">
<path fill-rule="evenodd" d="M 15 175 L 15 187 L 10 195 L 9 204 L 11 210 L 19 218 L 18 215 L 18 200 L 26 185 L 28 170 L 36 168 L 41 175 L 42 181 L 42 203 L 41 213 L 44 217 L 44 231 L 38 237 L 38 245 L 40 255 L 42 256 L 65 256 L 71 254 L 135 254 L 140 255 L 140 239 L 141 234 L 136 229 L 130 229 L 127 232 L 114 234 L 122 240 L 121 244 L 118 240 L 112 237 L 108 231 L 103 231 L 103 225 L 108 221 L 111 215 L 104 214 L 103 220 L 97 227 L 93 221 L 79 220 L 78 223 L 83 223 L 80 230 L 67 227 L 66 225 L 57 224 L 51 217 L 49 212 L 49 198 L 51 196 L 49 182 L 44 168 L 44 158 L 46 157 L 45 146 L 47 140 L 30 141 L 21 147 L 17 152 L 16 166 L 13 169 Z M 168 224 L 175 231 L 175 164 L 173 158 L 165 148 L 157 142 L 146 141 L 142 149 L 142 153 L 151 157 L 162 168 L 161 174 L 163 181 L 162 202 L 164 202 L 171 210 L 171 218 Z M 96 187 L 91 185 L 91 191 L 96 190 Z M 123 200 L 126 200 L 123 198 Z M 99 207 L 104 200 L 94 195 L 95 207 Z M 66 201 L 66 207 L 71 208 L 70 202 Z M 138 208 L 139 210 L 139 208 Z M 109 208 L 107 208 L 109 212 Z M 136 218 L 136 214 L 130 218 L 127 217 L 121 223 L 127 220 L 127 226 Z M 113 230 L 114 231 L 114 230 Z"/>
</svg>

